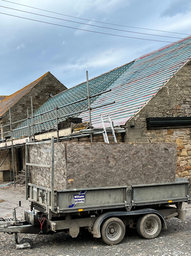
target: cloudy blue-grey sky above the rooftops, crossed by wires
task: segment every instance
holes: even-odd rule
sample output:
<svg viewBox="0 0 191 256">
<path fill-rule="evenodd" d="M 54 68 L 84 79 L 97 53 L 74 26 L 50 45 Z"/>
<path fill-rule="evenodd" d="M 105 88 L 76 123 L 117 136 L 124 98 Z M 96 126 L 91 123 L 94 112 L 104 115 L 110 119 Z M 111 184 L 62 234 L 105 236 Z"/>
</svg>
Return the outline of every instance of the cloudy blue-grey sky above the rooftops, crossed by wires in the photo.
<svg viewBox="0 0 191 256">
<path fill-rule="evenodd" d="M 0 95 L 48 71 L 71 88 L 191 35 L 191 1 L 0 0 L 0 28 Z"/>
</svg>

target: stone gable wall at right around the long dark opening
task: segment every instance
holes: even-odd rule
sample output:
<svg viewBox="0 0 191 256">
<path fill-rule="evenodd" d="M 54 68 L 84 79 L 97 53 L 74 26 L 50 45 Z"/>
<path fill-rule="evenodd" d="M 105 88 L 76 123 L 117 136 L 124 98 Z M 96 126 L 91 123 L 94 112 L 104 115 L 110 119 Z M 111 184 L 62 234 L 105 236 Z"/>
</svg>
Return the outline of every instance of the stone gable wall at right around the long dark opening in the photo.
<svg viewBox="0 0 191 256">
<path fill-rule="evenodd" d="M 147 130 L 146 117 L 191 117 L 191 62 L 126 123 L 125 137 L 126 142 L 176 142 L 177 177 L 190 178 L 191 128 Z"/>
</svg>

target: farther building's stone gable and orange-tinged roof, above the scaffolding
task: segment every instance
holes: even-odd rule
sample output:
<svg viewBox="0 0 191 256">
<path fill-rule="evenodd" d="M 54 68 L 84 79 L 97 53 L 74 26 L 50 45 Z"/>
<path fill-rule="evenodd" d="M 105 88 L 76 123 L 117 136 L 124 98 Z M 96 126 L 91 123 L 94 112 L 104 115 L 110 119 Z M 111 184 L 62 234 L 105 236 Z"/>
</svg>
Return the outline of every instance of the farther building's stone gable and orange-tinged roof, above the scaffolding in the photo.
<svg viewBox="0 0 191 256">
<path fill-rule="evenodd" d="M 12 95 L 0 98 L 0 117 L 1 126 L 5 126 L 10 123 L 10 113 L 11 121 L 19 121 L 21 119 L 27 118 L 27 108 L 29 109 L 29 114 L 31 115 L 31 99 L 33 110 L 35 111 L 41 105 L 45 103 L 50 97 L 50 95 L 56 95 L 59 92 L 63 92 L 67 88 L 60 83 L 54 75 L 50 72 L 45 73 L 42 77 L 36 79 L 29 85 L 25 86 L 21 90 L 14 92 Z M 18 124 L 14 124 L 16 127 Z M 1 128 L 1 133 L 6 130 L 10 130 L 10 127 Z M 8 134 L 3 134 L 5 137 Z"/>
</svg>

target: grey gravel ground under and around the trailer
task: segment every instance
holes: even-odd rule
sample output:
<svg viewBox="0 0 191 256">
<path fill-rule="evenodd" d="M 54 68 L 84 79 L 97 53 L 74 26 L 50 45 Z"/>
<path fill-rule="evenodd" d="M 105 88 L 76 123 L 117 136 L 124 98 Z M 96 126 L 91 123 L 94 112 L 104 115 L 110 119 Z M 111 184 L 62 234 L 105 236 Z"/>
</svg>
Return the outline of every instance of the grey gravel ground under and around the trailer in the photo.
<svg viewBox="0 0 191 256">
<path fill-rule="evenodd" d="M 12 208 L 21 200 L 23 206 L 17 209 L 17 216 L 23 216 L 23 208 L 29 206 L 25 200 L 24 187 L 14 186 L 0 187 L 0 217 L 11 217 Z M 31 249 L 16 249 L 14 235 L 0 233 L 1 255 L 191 255 L 191 205 L 183 204 L 186 209 L 186 221 L 170 219 L 167 221 L 168 230 L 161 230 L 159 237 L 147 240 L 139 237 L 136 230 L 128 230 L 121 244 L 107 246 L 100 239 L 95 239 L 82 230 L 77 238 L 71 238 L 65 233 L 54 235 L 19 235 L 19 241 L 23 237 L 33 240 Z"/>
</svg>

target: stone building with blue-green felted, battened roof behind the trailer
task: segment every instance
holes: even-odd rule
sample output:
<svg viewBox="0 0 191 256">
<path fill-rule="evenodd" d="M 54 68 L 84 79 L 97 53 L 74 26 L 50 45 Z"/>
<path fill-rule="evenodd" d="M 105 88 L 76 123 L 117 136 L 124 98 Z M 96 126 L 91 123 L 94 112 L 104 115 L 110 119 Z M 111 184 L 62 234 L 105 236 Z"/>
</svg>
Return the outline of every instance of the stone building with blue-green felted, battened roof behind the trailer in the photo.
<svg viewBox="0 0 191 256">
<path fill-rule="evenodd" d="M 100 115 L 104 121 L 110 115 L 117 141 L 177 143 L 177 176 L 190 178 L 190 58 L 191 37 L 187 37 L 90 79 L 93 142 L 103 141 Z M 90 141 L 87 82 L 48 99 L 36 110 L 35 115 L 39 114 L 41 119 L 34 120 L 41 121 L 41 126 L 34 126 L 36 139 L 45 130 L 56 130 L 41 139 L 54 135 L 60 140 Z M 82 124 L 75 124 L 74 119 L 82 119 Z M 25 126 L 23 122 L 14 137 L 27 137 Z"/>
</svg>

